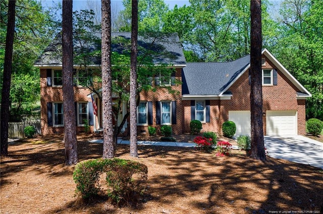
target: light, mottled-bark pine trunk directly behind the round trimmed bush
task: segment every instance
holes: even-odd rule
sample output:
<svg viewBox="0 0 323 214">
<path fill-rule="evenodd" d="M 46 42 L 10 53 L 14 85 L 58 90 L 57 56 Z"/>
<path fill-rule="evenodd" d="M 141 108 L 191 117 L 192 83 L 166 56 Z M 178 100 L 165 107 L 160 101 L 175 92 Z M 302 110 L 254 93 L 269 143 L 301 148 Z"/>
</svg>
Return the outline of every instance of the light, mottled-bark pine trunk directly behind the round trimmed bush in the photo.
<svg viewBox="0 0 323 214">
<path fill-rule="evenodd" d="M 111 1 L 101 0 L 102 12 L 102 120 L 103 158 L 115 156 L 112 117 L 112 74 L 111 74 Z M 117 127 L 116 127 L 117 128 Z"/>
</svg>

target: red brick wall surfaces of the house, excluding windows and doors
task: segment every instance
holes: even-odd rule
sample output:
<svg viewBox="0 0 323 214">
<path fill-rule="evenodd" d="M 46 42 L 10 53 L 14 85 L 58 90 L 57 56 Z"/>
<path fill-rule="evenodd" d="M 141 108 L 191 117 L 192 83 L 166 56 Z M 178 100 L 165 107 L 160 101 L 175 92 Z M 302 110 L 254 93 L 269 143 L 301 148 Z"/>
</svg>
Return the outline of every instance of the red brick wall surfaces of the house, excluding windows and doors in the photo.
<svg viewBox="0 0 323 214">
<path fill-rule="evenodd" d="M 263 56 L 265 57 L 265 56 Z M 263 68 L 275 68 L 278 71 L 278 84 L 263 86 L 263 112 L 268 110 L 295 110 L 297 111 L 298 134 L 305 134 L 305 99 L 297 99 L 298 89 L 294 84 L 278 70 L 270 61 L 266 60 Z M 182 69 L 176 69 L 176 78 L 182 80 Z M 62 101 L 62 87 L 47 86 L 46 69 L 40 69 L 40 95 L 41 95 L 41 127 L 43 135 L 63 133 L 63 127 L 49 127 L 47 121 L 47 103 Z M 140 93 L 140 100 L 152 102 L 152 125 L 138 126 L 138 134 L 148 133 L 148 126 L 157 128 L 159 132 L 160 125 L 156 125 L 156 101 L 176 101 L 176 124 L 172 123 L 174 134 L 190 132 L 191 121 L 191 100 L 182 100 L 182 86 L 172 86 L 172 89 L 178 93 L 169 93 L 167 88 L 159 88 L 156 92 L 148 91 Z M 222 124 L 229 119 L 229 111 L 249 111 L 250 110 L 250 85 L 248 72 L 245 72 L 228 89 L 232 92 L 231 99 L 213 99 L 210 100 L 210 122 L 203 123 L 203 130 L 212 131 L 221 134 Z M 75 101 L 91 101 L 88 97 L 90 91 L 82 87 L 74 87 Z M 263 117 L 263 130 L 266 134 L 266 117 Z M 77 127 L 81 132 L 84 127 Z M 93 126 L 91 126 L 91 131 Z"/>
</svg>

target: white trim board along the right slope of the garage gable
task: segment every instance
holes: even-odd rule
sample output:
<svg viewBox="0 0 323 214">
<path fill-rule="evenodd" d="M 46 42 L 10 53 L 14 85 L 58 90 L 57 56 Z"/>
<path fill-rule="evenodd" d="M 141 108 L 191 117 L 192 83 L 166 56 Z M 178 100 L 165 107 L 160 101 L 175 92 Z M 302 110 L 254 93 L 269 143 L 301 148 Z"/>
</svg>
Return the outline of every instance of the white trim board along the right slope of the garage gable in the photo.
<svg viewBox="0 0 323 214">
<path fill-rule="evenodd" d="M 303 93 L 307 93 L 308 96 L 311 97 L 312 94 L 306 90 L 306 88 L 269 52 L 267 49 L 262 50 L 262 54 L 264 54 L 271 62 L 273 62 L 277 68 Z M 301 97 L 301 96 L 299 96 Z"/>
</svg>

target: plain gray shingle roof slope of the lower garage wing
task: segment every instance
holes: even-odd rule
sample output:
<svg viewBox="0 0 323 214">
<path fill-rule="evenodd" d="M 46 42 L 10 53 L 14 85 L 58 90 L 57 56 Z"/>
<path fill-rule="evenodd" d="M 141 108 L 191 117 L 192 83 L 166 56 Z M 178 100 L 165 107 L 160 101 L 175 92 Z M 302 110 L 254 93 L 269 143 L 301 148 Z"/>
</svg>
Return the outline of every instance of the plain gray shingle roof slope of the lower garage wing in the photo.
<svg viewBox="0 0 323 214">
<path fill-rule="evenodd" d="M 187 63 L 182 73 L 183 95 L 219 95 L 250 64 L 250 55 L 231 62 Z"/>
</svg>

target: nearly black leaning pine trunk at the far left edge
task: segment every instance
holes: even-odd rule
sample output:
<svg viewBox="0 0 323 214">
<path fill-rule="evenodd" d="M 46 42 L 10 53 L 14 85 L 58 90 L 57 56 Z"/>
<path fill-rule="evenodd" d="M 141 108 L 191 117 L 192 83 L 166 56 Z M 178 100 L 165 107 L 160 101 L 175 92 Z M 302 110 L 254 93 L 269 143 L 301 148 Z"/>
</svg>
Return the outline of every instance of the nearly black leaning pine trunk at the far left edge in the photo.
<svg viewBox="0 0 323 214">
<path fill-rule="evenodd" d="M 4 64 L 4 78 L 1 97 L 1 128 L 0 128 L 0 154 L 1 156 L 8 156 L 8 137 L 9 137 L 9 108 L 10 108 L 10 84 L 12 72 L 12 54 L 14 47 L 15 34 L 15 12 L 16 1 L 9 1 L 8 3 L 8 24 L 6 36 L 6 50 L 5 50 L 5 64 Z"/>
</svg>

